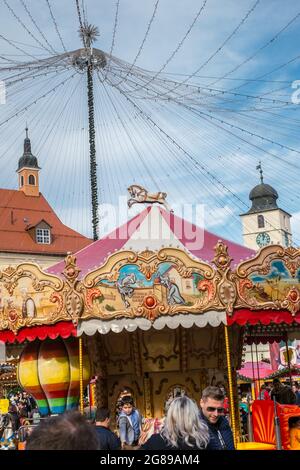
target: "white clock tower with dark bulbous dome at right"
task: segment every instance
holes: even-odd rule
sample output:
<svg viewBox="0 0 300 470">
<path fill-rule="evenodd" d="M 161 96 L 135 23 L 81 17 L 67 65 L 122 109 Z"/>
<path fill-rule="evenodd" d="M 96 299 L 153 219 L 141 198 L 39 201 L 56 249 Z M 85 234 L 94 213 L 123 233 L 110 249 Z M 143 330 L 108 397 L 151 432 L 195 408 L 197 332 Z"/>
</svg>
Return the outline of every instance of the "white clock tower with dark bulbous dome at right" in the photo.
<svg viewBox="0 0 300 470">
<path fill-rule="evenodd" d="M 277 205 L 278 193 L 263 180 L 261 162 L 256 167 L 260 171 L 260 184 L 250 191 L 252 206 L 248 212 L 241 214 L 244 244 L 258 250 L 270 245 L 292 244 L 291 215 Z"/>
</svg>

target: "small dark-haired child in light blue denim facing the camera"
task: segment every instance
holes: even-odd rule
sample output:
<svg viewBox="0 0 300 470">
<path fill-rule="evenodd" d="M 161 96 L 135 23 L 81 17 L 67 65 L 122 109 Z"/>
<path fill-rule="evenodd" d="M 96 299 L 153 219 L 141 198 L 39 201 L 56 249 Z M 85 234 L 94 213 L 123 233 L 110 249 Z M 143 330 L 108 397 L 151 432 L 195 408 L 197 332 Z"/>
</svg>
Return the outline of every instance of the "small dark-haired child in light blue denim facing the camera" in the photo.
<svg viewBox="0 0 300 470">
<path fill-rule="evenodd" d="M 142 429 L 142 417 L 139 411 L 134 408 L 131 395 L 125 395 L 121 400 L 121 412 L 118 417 L 119 434 L 121 448 L 126 445 L 136 446 Z"/>
</svg>

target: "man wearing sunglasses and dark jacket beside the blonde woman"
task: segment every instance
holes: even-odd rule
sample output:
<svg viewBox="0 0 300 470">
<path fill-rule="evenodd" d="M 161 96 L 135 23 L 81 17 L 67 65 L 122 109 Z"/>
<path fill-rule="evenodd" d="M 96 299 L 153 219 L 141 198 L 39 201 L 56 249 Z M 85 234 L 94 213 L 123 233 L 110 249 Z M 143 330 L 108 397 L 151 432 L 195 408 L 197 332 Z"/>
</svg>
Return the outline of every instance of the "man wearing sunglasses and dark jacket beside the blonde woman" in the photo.
<svg viewBox="0 0 300 470">
<path fill-rule="evenodd" d="M 224 399 L 219 387 L 206 387 L 202 392 L 200 414 L 209 429 L 207 450 L 234 450 L 232 430 L 224 416 Z"/>
</svg>

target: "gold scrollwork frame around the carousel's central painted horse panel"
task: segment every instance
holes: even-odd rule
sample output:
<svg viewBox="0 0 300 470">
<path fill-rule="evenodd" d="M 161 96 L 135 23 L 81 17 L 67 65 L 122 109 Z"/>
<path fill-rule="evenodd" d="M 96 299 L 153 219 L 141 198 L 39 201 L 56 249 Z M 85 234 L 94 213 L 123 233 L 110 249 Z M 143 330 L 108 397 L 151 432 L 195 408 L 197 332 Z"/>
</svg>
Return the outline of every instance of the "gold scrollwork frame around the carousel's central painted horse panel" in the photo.
<svg viewBox="0 0 300 470">
<path fill-rule="evenodd" d="M 210 304 L 207 302 L 207 296 L 201 296 L 197 292 L 189 295 L 190 292 L 186 291 L 187 301 L 185 303 L 169 302 L 167 296 L 170 287 L 168 288 L 166 285 L 163 285 L 159 276 L 153 280 L 152 284 L 150 283 L 151 286 L 149 284 L 150 287 L 141 284 L 142 281 L 139 278 L 138 287 L 133 287 L 128 300 L 126 302 L 124 299 L 120 300 L 121 294 L 117 284 L 119 279 L 122 280 L 124 278 L 124 276 L 123 278 L 120 277 L 120 273 L 126 272 L 123 268 L 128 265 L 135 265 L 144 275 L 145 282 L 147 283 L 158 272 L 161 263 L 169 263 L 172 269 L 174 268 L 172 275 L 175 276 L 174 284 L 176 279 L 178 279 L 176 278 L 177 275 L 182 280 L 191 279 L 190 283 L 184 284 L 189 286 L 190 289 L 192 289 L 191 284 L 194 282 L 193 276 L 211 280 L 211 285 L 207 287 L 209 302 L 216 309 L 222 308 L 222 304 L 218 306 L 216 297 L 210 295 L 211 289 L 215 292 L 214 278 L 216 271 L 209 264 L 195 258 L 192 259 L 186 252 L 177 248 L 163 248 L 158 252 L 145 250 L 141 253 L 124 250 L 112 254 L 102 267 L 90 272 L 83 279 L 82 288 L 85 291 L 85 308 L 81 318 L 111 320 L 113 318 L 144 317 L 153 322 L 162 315 L 172 316 L 179 313 L 201 313 L 202 311 L 209 310 Z M 88 293 L 95 288 L 100 288 L 103 294 L 100 303 L 93 302 Z"/>
</svg>

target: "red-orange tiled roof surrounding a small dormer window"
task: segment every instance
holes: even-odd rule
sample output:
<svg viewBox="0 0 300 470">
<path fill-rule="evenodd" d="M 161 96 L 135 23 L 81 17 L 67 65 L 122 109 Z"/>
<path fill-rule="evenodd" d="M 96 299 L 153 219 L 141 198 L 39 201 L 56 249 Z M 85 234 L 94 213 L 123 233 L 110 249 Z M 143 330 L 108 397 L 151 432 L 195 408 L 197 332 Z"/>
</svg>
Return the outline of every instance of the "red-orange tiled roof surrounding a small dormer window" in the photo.
<svg viewBox="0 0 300 470">
<path fill-rule="evenodd" d="M 28 227 L 44 220 L 51 226 L 52 243 L 36 243 Z M 66 227 L 42 194 L 26 196 L 22 191 L 0 189 L 0 252 L 65 255 L 92 242 Z"/>
</svg>

